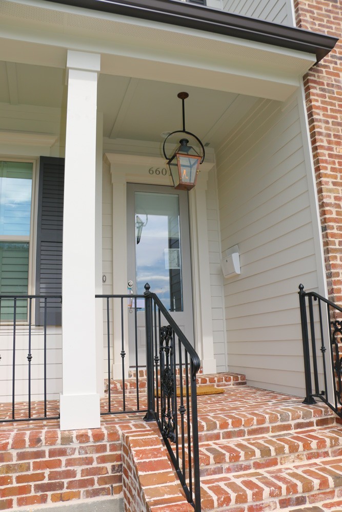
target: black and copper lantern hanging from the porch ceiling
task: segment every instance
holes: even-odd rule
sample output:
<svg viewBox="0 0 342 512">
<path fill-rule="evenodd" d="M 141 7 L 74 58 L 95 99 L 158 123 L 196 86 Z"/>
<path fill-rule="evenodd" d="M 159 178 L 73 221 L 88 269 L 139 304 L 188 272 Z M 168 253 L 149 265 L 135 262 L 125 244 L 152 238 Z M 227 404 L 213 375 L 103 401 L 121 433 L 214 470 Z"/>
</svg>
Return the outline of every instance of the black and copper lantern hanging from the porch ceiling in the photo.
<svg viewBox="0 0 342 512">
<path fill-rule="evenodd" d="M 185 129 L 184 100 L 188 98 L 189 94 L 183 92 L 178 93 L 177 96 L 182 100 L 183 130 L 177 130 L 167 136 L 163 144 L 163 153 L 165 158 L 168 160 L 174 187 L 178 190 L 191 190 L 196 185 L 199 165 L 204 161 L 205 151 L 203 144 L 198 137 L 191 132 L 187 132 Z M 168 157 L 165 152 L 165 145 L 168 138 L 174 134 L 182 134 L 183 137 L 179 140 L 180 146 L 171 157 Z M 189 139 L 187 138 L 187 135 L 196 139 L 202 151 L 202 155 L 198 154 L 192 146 L 188 146 Z"/>
</svg>

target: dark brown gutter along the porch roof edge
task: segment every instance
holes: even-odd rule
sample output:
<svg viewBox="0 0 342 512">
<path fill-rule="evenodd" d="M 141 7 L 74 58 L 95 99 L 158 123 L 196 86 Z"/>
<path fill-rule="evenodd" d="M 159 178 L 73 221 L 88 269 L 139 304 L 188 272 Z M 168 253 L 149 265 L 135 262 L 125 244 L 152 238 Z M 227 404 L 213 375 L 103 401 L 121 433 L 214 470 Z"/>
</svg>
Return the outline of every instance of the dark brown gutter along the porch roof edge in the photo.
<svg viewBox="0 0 342 512">
<path fill-rule="evenodd" d="M 177 0 L 47 0 L 95 11 L 167 23 L 180 27 L 224 34 L 266 45 L 316 55 L 317 62 L 336 45 L 338 38 L 308 30 L 240 16 L 218 9 Z"/>
</svg>

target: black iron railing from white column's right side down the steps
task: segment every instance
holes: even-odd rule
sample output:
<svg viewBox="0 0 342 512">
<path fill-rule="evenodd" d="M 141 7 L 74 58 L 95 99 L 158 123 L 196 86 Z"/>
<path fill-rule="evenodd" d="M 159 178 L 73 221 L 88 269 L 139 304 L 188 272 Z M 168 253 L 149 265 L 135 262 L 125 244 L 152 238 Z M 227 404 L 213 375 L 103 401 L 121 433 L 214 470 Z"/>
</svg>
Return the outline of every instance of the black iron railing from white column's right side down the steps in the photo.
<svg viewBox="0 0 342 512">
<path fill-rule="evenodd" d="M 144 295 L 96 297 L 104 301 L 106 312 L 108 406 L 102 414 L 146 411 L 144 419 L 158 424 L 187 500 L 196 512 L 200 512 L 196 393 L 199 357 L 157 295 L 150 292 L 148 284 L 145 285 Z M 129 332 L 125 331 L 128 330 L 126 314 L 130 322 Z M 144 317 L 146 342 L 144 354 L 138 349 L 141 316 Z M 129 338 L 131 365 L 126 361 Z M 111 350 L 114 348 L 117 351 L 115 345 L 120 345 L 122 367 L 121 375 L 117 378 L 120 384 L 122 382 L 121 393 L 117 389 L 111 393 Z M 117 353 L 114 354 L 114 360 L 116 356 Z M 135 370 L 135 392 L 126 389 L 127 366 L 133 366 Z M 146 367 L 147 389 L 144 394 L 139 392 L 138 375 L 142 371 L 141 367 Z"/>
</svg>

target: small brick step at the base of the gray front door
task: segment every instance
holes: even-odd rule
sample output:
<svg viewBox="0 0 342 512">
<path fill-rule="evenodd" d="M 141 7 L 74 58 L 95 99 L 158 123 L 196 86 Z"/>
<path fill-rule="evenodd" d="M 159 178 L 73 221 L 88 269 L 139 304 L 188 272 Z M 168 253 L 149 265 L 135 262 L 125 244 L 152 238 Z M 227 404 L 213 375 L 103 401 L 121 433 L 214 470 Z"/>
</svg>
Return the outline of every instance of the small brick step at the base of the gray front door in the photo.
<svg viewBox="0 0 342 512">
<path fill-rule="evenodd" d="M 190 378 L 190 377 L 189 377 Z M 197 375 L 197 385 L 200 386 L 214 386 L 217 388 L 230 388 L 233 386 L 246 386 L 246 376 L 237 373 L 215 373 L 211 375 Z M 179 383 L 179 377 L 177 378 Z M 183 384 L 186 381 L 183 378 Z M 125 391 L 136 393 L 136 378 L 125 379 Z M 138 388 L 142 392 L 146 392 L 146 377 L 138 378 Z M 110 381 L 111 393 L 122 393 L 123 381 L 122 379 L 111 379 Z M 105 392 L 108 393 L 108 379 L 105 380 Z"/>
</svg>

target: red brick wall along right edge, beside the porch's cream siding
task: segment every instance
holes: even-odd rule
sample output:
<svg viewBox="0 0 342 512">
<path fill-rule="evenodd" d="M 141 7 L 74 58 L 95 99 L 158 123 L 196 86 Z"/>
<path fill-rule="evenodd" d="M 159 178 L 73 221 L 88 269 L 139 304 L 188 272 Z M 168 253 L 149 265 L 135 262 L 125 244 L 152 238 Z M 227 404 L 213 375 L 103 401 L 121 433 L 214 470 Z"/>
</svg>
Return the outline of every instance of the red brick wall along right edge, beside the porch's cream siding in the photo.
<svg viewBox="0 0 342 512">
<path fill-rule="evenodd" d="M 335 37 L 342 0 L 294 0 L 297 26 Z M 342 302 L 342 40 L 304 77 L 330 300 Z"/>
</svg>

